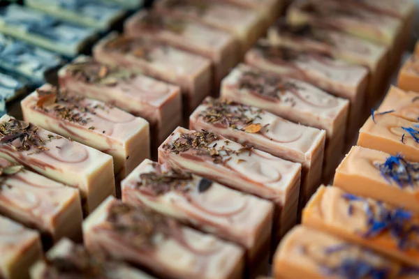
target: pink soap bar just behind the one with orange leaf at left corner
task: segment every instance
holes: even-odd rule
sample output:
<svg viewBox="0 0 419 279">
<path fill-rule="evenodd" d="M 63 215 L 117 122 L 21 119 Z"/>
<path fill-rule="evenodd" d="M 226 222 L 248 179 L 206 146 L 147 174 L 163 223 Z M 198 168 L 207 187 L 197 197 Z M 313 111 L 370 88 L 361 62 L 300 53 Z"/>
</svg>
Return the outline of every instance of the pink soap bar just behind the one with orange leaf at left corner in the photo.
<svg viewBox="0 0 419 279">
<path fill-rule="evenodd" d="M 79 56 L 59 70 L 61 89 L 117 107 L 149 122 L 152 147 L 157 147 L 182 123 L 182 95 L 178 86 L 152 77 L 106 66 Z"/>
</svg>

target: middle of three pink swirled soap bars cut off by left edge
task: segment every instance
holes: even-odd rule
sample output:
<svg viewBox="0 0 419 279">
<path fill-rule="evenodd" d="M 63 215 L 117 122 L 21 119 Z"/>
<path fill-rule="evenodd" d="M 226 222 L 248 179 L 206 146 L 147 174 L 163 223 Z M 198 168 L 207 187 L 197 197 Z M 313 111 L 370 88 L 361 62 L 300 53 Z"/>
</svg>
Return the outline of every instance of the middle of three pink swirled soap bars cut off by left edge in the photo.
<svg viewBox="0 0 419 279">
<path fill-rule="evenodd" d="M 33 227 L 56 242 L 82 239 L 79 190 L 0 158 L 0 213 Z"/>
</svg>

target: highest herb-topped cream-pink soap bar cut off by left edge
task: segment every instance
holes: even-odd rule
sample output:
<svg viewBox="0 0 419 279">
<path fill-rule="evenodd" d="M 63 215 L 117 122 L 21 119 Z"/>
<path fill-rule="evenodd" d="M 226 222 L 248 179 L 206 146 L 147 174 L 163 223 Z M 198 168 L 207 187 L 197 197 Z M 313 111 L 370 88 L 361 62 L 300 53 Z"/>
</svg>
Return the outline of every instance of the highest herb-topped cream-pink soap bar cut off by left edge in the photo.
<svg viewBox="0 0 419 279">
<path fill-rule="evenodd" d="M 0 158 L 78 188 L 84 213 L 115 195 L 112 156 L 7 114 L 0 133 Z"/>
</svg>

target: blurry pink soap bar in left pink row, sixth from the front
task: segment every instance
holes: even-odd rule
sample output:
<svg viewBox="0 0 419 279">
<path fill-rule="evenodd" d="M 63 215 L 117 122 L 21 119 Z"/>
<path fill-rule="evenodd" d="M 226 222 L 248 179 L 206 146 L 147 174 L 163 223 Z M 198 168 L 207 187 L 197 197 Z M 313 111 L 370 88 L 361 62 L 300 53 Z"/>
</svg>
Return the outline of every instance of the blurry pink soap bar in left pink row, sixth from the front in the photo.
<svg viewBox="0 0 419 279">
<path fill-rule="evenodd" d="M 94 57 L 179 85 L 187 116 L 212 92 L 210 60 L 151 38 L 118 37 L 112 33 L 94 47 Z"/>
</svg>

